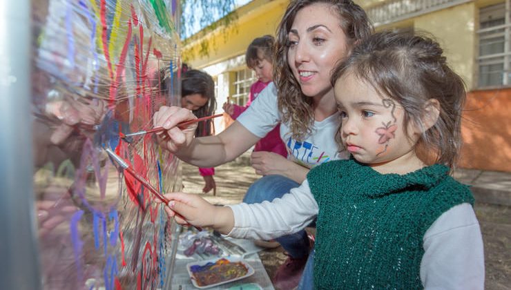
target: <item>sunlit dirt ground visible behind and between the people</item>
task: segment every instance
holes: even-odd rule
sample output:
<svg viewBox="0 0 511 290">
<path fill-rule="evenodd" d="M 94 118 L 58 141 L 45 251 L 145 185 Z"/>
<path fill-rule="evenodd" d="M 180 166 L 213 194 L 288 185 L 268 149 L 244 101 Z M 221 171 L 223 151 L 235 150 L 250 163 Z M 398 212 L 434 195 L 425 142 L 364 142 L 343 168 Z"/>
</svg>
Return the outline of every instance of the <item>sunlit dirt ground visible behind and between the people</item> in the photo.
<svg viewBox="0 0 511 290">
<path fill-rule="evenodd" d="M 241 202 L 250 184 L 259 178 L 249 164 L 249 153 L 245 153 L 233 162 L 215 168 L 216 196 L 210 192 L 204 197 L 213 204 Z M 183 191 L 201 193 L 204 180 L 198 169 L 183 164 L 182 173 Z M 485 289 L 511 289 L 511 208 L 476 203 L 474 209 L 481 224 L 485 246 Z M 261 251 L 259 255 L 270 278 L 287 258 L 281 247 Z"/>
</svg>

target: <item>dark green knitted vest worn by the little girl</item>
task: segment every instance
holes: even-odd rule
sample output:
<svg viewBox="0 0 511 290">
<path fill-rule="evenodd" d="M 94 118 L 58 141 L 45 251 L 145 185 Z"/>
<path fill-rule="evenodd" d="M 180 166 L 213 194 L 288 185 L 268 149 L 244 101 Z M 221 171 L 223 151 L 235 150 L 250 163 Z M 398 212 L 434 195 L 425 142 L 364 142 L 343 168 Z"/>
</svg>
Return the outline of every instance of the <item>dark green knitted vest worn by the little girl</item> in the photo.
<svg viewBox="0 0 511 290">
<path fill-rule="evenodd" d="M 467 186 L 433 165 L 382 175 L 355 160 L 326 162 L 307 175 L 319 213 L 316 289 L 421 289 L 423 236 Z"/>
</svg>

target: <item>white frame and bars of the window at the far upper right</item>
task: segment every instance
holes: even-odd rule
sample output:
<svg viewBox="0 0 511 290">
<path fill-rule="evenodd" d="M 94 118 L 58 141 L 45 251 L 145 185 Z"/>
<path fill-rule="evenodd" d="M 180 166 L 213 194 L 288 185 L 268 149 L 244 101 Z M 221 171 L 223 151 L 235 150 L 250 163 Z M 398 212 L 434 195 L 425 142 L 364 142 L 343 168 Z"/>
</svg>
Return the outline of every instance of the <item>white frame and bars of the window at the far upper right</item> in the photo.
<svg viewBox="0 0 511 290">
<path fill-rule="evenodd" d="M 503 7 L 501 7 L 503 6 Z M 479 55 L 476 57 L 478 76 L 477 76 L 477 87 L 478 88 L 490 88 L 500 86 L 511 86 L 511 46 L 510 46 L 510 33 L 511 33 L 511 17 L 510 17 L 510 0 L 505 0 L 503 3 L 495 4 L 479 10 L 479 27 L 478 34 L 478 45 Z M 488 28 L 481 28 L 481 23 L 484 21 L 490 21 L 493 19 L 502 19 L 504 17 L 504 23 L 500 25 L 491 26 Z M 485 39 L 495 39 L 496 37 L 503 37 L 503 51 L 488 53 L 481 55 L 481 46 L 490 45 L 491 41 L 484 42 Z M 502 70 L 490 71 L 488 74 L 483 75 L 483 68 L 501 64 Z M 492 82 L 491 77 L 487 79 L 491 73 L 499 72 L 501 74 L 500 81 L 498 83 Z"/>
</svg>

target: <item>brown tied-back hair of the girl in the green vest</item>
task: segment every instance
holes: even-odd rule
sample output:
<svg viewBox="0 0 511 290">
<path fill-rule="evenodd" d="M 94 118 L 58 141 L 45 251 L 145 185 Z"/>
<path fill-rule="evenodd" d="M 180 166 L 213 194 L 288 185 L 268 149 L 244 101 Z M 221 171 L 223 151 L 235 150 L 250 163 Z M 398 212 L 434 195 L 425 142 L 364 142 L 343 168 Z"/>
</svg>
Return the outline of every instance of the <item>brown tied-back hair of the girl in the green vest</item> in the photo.
<svg viewBox="0 0 511 290">
<path fill-rule="evenodd" d="M 398 101 L 405 112 L 405 133 L 409 122 L 423 128 L 416 144 L 418 153 L 435 155 L 435 163 L 454 167 L 461 147 L 465 84 L 447 65 L 436 41 L 405 33 L 376 33 L 361 41 L 336 67 L 332 84 L 345 74 L 367 81 L 380 95 Z M 430 99 L 438 101 L 440 114 L 425 130 L 421 120 Z"/>
</svg>

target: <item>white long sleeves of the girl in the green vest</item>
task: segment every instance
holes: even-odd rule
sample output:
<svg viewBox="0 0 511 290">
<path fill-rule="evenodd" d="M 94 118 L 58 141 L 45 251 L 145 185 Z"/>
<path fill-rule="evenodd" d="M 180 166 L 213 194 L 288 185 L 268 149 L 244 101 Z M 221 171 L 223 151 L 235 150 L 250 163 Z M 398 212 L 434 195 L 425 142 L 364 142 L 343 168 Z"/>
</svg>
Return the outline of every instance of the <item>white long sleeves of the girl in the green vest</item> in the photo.
<svg viewBox="0 0 511 290">
<path fill-rule="evenodd" d="M 307 180 L 273 202 L 229 206 L 234 227 L 229 236 L 271 240 L 296 233 L 318 214 Z M 421 282 L 425 289 L 484 289 L 483 238 L 472 205 L 443 213 L 423 237 Z"/>
</svg>

